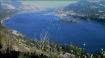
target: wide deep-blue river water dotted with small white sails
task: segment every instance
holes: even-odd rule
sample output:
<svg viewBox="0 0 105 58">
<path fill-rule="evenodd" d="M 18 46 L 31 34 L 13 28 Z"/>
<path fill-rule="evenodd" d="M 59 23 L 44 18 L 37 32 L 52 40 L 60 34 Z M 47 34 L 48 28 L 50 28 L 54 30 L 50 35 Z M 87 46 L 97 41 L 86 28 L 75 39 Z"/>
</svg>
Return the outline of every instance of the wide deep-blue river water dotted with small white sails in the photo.
<svg viewBox="0 0 105 58">
<path fill-rule="evenodd" d="M 4 25 L 17 30 L 26 38 L 39 38 L 42 30 L 50 33 L 50 40 L 57 44 L 70 44 L 79 47 L 86 43 L 86 52 L 94 53 L 100 48 L 105 49 L 105 25 L 96 22 L 80 21 L 78 24 L 59 21 L 59 17 L 44 15 L 49 12 L 15 14 Z M 73 17 L 70 17 L 73 19 Z M 75 18 L 74 18 L 75 19 Z"/>
</svg>

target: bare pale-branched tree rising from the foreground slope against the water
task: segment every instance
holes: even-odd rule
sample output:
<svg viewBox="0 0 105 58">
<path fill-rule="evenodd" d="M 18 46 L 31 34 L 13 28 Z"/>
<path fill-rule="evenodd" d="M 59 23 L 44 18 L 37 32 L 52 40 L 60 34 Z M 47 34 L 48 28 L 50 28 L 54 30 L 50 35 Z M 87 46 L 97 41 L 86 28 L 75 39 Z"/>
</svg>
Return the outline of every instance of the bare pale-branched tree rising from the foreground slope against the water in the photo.
<svg viewBox="0 0 105 58">
<path fill-rule="evenodd" d="M 34 36 L 34 38 L 35 38 L 35 36 Z M 37 38 L 35 38 L 35 42 L 40 50 L 44 51 L 46 49 L 46 51 L 47 50 L 50 51 L 49 49 L 47 49 L 50 47 L 49 38 L 50 38 L 50 35 L 49 35 L 48 31 L 44 31 L 44 30 L 40 34 L 39 41 L 37 41 Z"/>
</svg>

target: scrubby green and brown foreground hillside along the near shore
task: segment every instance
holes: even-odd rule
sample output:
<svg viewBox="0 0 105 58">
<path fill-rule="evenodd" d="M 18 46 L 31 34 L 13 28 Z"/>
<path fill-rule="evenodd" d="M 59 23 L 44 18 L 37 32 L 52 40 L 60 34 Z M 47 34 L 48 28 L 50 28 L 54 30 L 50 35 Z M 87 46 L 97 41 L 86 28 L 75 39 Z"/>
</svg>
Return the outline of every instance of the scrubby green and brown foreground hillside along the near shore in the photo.
<svg viewBox="0 0 105 58">
<path fill-rule="evenodd" d="M 8 14 L 7 11 L 9 10 L 2 11 L 3 17 L 0 20 L 14 14 L 13 12 Z M 49 41 L 48 31 L 40 34 L 39 41 L 36 37 L 35 40 L 30 40 L 12 32 L 0 24 L 0 58 L 105 58 L 105 51 L 102 48 L 99 52 L 90 54 L 85 53 L 85 48 L 80 48 L 72 43 L 70 45 L 52 43 Z"/>
</svg>

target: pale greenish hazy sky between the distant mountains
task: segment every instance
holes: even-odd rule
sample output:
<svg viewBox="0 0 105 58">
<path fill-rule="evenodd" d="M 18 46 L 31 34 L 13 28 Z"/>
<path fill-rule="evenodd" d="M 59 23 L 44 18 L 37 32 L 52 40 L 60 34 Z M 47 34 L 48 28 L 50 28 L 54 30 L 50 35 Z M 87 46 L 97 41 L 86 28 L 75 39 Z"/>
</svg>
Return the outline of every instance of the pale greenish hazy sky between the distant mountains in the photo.
<svg viewBox="0 0 105 58">
<path fill-rule="evenodd" d="M 77 1 L 22 1 L 29 4 L 40 5 L 45 8 L 54 8 L 59 6 L 66 6 Z"/>
</svg>

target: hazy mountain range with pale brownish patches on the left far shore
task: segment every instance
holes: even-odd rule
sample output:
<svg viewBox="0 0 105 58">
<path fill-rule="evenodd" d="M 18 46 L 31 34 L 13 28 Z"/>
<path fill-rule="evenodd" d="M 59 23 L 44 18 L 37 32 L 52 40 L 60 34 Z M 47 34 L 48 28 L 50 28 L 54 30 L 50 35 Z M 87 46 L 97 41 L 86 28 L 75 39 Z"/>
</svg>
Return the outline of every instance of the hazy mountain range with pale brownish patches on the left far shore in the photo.
<svg viewBox="0 0 105 58">
<path fill-rule="evenodd" d="M 5 1 L 0 3 L 0 20 L 6 19 L 5 17 L 11 17 L 13 14 L 22 14 L 27 12 L 37 12 L 37 11 L 44 11 L 45 8 L 38 6 L 38 5 L 32 5 L 32 4 L 26 4 L 19 1 Z"/>
</svg>

